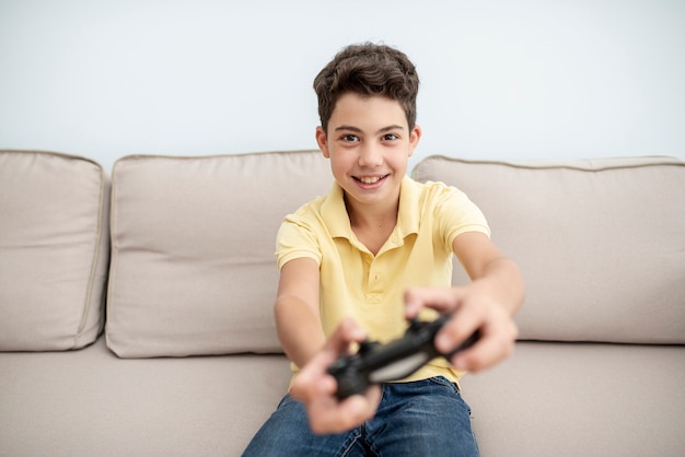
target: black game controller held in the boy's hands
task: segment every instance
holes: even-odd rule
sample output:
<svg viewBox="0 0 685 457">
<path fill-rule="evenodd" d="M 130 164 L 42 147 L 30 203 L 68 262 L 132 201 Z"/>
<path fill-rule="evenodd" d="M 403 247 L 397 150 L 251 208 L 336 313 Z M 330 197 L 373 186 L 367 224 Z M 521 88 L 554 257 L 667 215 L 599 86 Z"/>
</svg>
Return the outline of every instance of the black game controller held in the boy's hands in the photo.
<svg viewBox="0 0 685 457">
<path fill-rule="evenodd" d="M 387 344 L 367 340 L 359 344 L 356 354 L 340 356 L 327 370 L 338 382 L 336 397 L 344 399 L 363 394 L 372 384 L 402 379 L 438 356 L 450 360 L 455 353 L 472 347 L 480 337 L 476 330 L 452 352 L 438 352 L 433 339 L 449 319 L 450 315 L 440 316 L 431 323 L 413 319 L 403 338 Z"/>
</svg>

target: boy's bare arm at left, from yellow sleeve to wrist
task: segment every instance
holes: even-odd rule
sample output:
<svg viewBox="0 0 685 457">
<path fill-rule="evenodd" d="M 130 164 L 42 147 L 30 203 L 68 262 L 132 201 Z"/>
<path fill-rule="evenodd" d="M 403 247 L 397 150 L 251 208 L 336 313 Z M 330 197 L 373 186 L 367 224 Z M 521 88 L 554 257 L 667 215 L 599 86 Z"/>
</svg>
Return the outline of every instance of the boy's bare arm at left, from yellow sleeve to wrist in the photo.
<svg viewBox="0 0 685 457">
<path fill-rule="evenodd" d="M 288 261 L 280 271 L 274 312 L 288 358 L 303 367 L 326 342 L 318 310 L 318 265 L 311 258 Z"/>
</svg>

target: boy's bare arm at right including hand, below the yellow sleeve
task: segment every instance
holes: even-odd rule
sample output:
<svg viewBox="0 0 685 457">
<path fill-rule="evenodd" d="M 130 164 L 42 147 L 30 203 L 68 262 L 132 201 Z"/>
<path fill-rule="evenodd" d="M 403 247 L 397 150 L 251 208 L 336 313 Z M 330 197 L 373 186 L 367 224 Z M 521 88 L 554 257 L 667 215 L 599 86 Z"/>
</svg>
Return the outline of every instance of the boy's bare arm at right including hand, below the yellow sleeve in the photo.
<svg viewBox="0 0 685 457">
<path fill-rule="evenodd" d="M 423 306 L 454 313 L 436 338 L 441 352 L 450 352 L 479 329 L 479 342 L 451 361 L 457 370 L 479 371 L 513 351 L 518 329 L 512 317 L 523 303 L 523 279 L 519 267 L 481 233 L 463 233 L 452 246 L 472 283 L 451 289 L 411 289 L 405 296 L 406 314 L 411 318 Z"/>
</svg>

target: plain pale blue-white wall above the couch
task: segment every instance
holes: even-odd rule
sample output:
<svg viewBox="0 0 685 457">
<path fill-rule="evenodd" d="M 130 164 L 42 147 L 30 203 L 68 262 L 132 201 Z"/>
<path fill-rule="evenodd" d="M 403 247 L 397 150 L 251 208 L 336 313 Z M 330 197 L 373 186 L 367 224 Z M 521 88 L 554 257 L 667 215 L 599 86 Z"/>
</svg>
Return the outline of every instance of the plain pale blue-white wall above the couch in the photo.
<svg viewBox="0 0 685 457">
<path fill-rule="evenodd" d="M 315 148 L 316 72 L 405 50 L 422 142 L 486 159 L 685 159 L 682 0 L 0 0 L 0 148 Z"/>
</svg>

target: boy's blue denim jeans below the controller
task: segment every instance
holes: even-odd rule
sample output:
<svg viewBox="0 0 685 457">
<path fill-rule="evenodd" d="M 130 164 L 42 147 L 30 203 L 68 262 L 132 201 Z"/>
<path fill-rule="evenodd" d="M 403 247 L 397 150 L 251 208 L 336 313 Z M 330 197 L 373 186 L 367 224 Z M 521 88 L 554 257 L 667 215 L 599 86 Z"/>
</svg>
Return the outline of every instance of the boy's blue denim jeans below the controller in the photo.
<svg viewBox="0 0 685 457">
<path fill-rule="evenodd" d="M 471 409 L 448 379 L 386 384 L 375 417 L 346 433 L 315 435 L 286 395 L 243 456 L 478 456 Z"/>
</svg>

